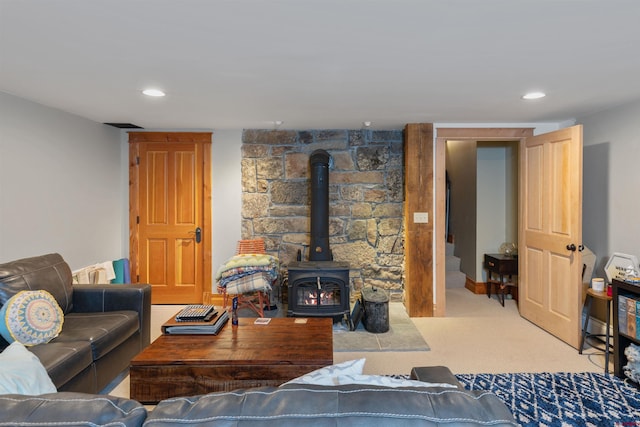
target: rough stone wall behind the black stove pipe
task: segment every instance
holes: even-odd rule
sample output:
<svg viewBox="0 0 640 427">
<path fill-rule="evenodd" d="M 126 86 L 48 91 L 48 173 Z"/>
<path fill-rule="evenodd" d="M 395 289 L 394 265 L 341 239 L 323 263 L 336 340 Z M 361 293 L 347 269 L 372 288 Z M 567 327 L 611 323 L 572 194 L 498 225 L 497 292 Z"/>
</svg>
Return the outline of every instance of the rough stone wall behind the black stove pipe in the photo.
<svg viewBox="0 0 640 427">
<path fill-rule="evenodd" d="M 350 265 L 352 296 L 363 285 L 402 295 L 402 130 L 245 130 L 242 143 L 243 239 L 264 238 L 285 276 L 299 250 L 308 259 L 309 155 L 324 149 L 330 247 Z"/>
</svg>

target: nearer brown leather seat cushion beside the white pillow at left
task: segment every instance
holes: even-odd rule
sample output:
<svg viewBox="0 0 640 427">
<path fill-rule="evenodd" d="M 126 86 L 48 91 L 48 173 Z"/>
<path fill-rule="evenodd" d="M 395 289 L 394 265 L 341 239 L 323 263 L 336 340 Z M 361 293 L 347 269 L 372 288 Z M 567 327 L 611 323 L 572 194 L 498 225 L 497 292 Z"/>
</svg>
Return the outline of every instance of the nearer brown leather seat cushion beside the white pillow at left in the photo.
<svg viewBox="0 0 640 427">
<path fill-rule="evenodd" d="M 60 388 L 93 363 L 89 341 L 58 342 L 34 345 L 29 351 L 38 356 L 56 387 Z"/>
</svg>

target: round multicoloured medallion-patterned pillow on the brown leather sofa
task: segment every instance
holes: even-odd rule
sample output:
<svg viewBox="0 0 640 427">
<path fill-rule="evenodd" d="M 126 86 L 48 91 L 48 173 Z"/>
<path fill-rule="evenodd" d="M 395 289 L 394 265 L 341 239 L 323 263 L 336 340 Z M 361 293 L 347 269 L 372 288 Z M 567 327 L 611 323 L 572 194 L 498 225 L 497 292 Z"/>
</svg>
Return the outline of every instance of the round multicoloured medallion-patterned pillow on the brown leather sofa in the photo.
<svg viewBox="0 0 640 427">
<path fill-rule="evenodd" d="M 58 336 L 64 316 L 47 291 L 20 291 L 0 309 L 0 335 L 8 342 L 43 344 Z"/>
</svg>

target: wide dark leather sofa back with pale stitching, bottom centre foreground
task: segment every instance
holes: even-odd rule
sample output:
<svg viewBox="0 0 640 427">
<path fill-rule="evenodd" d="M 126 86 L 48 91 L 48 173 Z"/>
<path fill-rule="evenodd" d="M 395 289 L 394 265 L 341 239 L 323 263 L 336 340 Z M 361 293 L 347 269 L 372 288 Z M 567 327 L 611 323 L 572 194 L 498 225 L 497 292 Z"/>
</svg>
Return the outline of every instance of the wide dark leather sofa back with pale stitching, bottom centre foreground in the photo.
<svg viewBox="0 0 640 427">
<path fill-rule="evenodd" d="M 177 422 L 180 420 L 180 422 Z M 145 426 L 517 426 L 494 394 L 362 385 L 260 387 L 160 401 Z"/>
</svg>

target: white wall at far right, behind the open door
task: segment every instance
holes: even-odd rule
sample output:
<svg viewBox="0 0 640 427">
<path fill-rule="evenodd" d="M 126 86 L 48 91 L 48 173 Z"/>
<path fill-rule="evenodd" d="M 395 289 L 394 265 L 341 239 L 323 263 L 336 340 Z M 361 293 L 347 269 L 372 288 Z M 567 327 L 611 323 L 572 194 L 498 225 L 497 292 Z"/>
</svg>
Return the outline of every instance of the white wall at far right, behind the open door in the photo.
<svg viewBox="0 0 640 427">
<path fill-rule="evenodd" d="M 640 256 L 639 118 L 635 102 L 578 120 L 584 140 L 583 242 L 599 267 L 613 252 Z"/>
</svg>

